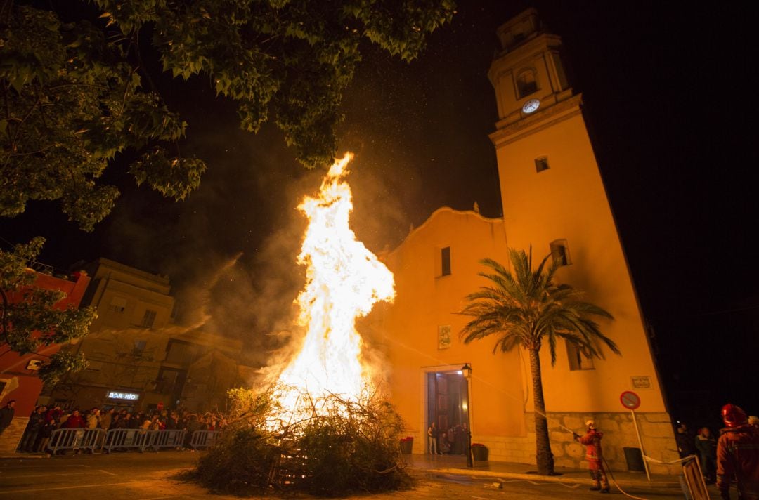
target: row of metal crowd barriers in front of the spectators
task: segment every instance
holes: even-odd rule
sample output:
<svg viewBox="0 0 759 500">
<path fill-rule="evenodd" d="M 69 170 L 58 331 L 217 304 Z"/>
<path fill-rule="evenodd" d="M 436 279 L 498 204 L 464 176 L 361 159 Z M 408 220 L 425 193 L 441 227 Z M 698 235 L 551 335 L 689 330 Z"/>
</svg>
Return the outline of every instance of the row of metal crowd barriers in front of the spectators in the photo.
<svg viewBox="0 0 759 500">
<path fill-rule="evenodd" d="M 184 429 L 55 429 L 47 448 L 53 454 L 74 451 L 102 450 L 111 453 L 114 450 L 128 451 L 146 449 L 158 451 L 161 448 L 208 448 L 216 442 L 221 431 L 197 430 L 187 436 Z"/>
</svg>

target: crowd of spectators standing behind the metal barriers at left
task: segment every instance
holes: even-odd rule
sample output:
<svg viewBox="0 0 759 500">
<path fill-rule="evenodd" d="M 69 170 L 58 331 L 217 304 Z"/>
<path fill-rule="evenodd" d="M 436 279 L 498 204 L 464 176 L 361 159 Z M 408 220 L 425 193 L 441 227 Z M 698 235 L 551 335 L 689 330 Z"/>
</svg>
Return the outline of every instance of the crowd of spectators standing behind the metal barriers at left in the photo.
<svg viewBox="0 0 759 500">
<path fill-rule="evenodd" d="M 137 411 L 97 408 L 82 413 L 79 408 L 64 410 L 59 406 L 38 406 L 29 417 L 18 451 L 42 453 L 47 451 L 55 429 L 144 429 L 186 430 L 191 436 L 197 430 L 220 430 L 225 420 L 219 414 L 194 414 L 189 410 Z"/>
</svg>

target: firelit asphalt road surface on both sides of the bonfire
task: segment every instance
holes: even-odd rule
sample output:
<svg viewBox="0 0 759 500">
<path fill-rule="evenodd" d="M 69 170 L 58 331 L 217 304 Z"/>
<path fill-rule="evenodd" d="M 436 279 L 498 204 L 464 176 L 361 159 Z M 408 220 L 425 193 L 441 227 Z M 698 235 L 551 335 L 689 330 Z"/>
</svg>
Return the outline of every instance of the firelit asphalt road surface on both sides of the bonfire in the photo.
<svg viewBox="0 0 759 500">
<path fill-rule="evenodd" d="M 124 453 L 110 455 L 74 455 L 54 458 L 20 458 L 0 460 L 0 497 L 4 500 L 55 498 L 81 500 L 163 500 L 187 498 L 239 500 L 230 495 L 215 495 L 194 483 L 181 480 L 179 474 L 194 467 L 198 454 L 190 451 L 160 453 Z M 446 498 L 451 500 L 493 500 L 508 498 L 626 498 L 620 492 L 601 495 L 591 492 L 587 484 L 568 485 L 522 480 L 414 471 L 414 489 L 383 495 L 359 495 L 351 498 Z M 646 500 L 682 499 L 679 489 L 630 488 L 628 494 Z M 266 498 L 271 499 L 272 496 Z M 292 498 L 291 496 L 288 498 Z M 298 497 L 306 498 L 306 497 Z"/>
</svg>

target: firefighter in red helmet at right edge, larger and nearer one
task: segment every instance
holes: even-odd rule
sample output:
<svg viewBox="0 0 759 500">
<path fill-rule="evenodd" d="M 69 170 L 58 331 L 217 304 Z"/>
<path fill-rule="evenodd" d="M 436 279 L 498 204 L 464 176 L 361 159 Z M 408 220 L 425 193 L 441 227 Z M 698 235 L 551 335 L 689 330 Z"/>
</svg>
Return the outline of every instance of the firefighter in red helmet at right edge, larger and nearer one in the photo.
<svg viewBox="0 0 759 500">
<path fill-rule="evenodd" d="M 759 500 L 759 429 L 748 423 L 745 411 L 735 404 L 722 408 L 725 428 L 716 443 L 716 487 L 723 500 L 730 498 L 735 478 L 739 500 Z"/>
</svg>

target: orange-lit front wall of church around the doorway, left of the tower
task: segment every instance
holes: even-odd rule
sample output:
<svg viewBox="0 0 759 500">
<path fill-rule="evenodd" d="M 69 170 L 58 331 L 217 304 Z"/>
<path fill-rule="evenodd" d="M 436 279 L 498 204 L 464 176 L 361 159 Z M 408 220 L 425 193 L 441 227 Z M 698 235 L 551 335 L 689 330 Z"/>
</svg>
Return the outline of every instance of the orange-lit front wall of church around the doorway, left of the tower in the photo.
<svg viewBox="0 0 759 500">
<path fill-rule="evenodd" d="M 440 275 L 440 251 L 451 248 L 451 274 Z M 424 225 L 409 234 L 401 247 L 383 257 L 395 275 L 392 306 L 373 314 L 372 328 L 383 332 L 383 344 L 392 368 L 388 382 L 393 404 L 415 436 L 415 452 L 424 449 L 424 374 L 453 371 L 469 363 L 473 368 L 471 422 L 474 436 L 524 435 L 524 399 L 517 352 L 493 354 L 493 342 L 465 345 L 458 339 L 467 318 L 459 316 L 466 294 L 486 280 L 480 259 L 505 261 L 505 234 L 501 219 L 476 212 L 438 209 Z M 450 347 L 439 349 L 438 328 L 451 326 Z"/>
</svg>

